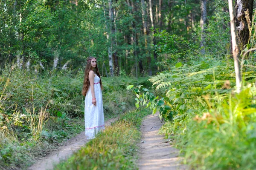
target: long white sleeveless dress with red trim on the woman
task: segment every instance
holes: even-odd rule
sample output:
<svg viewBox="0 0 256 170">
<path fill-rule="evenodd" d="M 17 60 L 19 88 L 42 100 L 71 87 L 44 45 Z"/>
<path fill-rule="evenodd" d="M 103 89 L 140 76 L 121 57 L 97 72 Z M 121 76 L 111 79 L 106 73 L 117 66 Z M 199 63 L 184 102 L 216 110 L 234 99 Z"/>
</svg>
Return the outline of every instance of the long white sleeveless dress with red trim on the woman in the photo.
<svg viewBox="0 0 256 170">
<path fill-rule="evenodd" d="M 95 73 L 94 73 L 95 74 Z M 99 76 L 94 76 L 94 95 L 96 106 L 92 104 L 92 93 L 89 87 L 84 104 L 85 136 L 92 139 L 100 131 L 105 129 L 102 90 L 99 83 Z"/>
</svg>

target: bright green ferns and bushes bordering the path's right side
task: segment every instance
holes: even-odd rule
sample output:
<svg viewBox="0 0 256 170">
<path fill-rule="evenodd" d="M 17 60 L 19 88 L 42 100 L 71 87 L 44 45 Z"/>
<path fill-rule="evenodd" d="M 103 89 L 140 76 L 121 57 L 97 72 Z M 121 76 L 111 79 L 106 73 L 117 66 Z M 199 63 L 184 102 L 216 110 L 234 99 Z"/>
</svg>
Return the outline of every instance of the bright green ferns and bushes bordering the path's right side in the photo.
<svg viewBox="0 0 256 170">
<path fill-rule="evenodd" d="M 149 79 L 160 97 L 140 86 L 134 91 L 137 106 L 160 109 L 161 131 L 181 149 L 184 163 L 200 170 L 255 169 L 255 69 L 244 70 L 239 94 L 228 61 L 208 57 L 170 70 Z"/>
</svg>

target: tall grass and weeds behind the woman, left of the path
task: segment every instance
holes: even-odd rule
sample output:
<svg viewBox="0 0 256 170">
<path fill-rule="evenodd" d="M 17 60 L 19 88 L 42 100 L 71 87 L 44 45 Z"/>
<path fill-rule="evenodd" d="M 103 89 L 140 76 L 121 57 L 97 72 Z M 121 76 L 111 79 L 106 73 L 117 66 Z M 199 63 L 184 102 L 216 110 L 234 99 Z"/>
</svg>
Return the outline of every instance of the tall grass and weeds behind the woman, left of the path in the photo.
<svg viewBox="0 0 256 170">
<path fill-rule="evenodd" d="M 0 169 L 25 168 L 84 131 L 83 71 L 0 70 Z M 133 107 L 125 75 L 102 78 L 105 120 Z"/>
</svg>

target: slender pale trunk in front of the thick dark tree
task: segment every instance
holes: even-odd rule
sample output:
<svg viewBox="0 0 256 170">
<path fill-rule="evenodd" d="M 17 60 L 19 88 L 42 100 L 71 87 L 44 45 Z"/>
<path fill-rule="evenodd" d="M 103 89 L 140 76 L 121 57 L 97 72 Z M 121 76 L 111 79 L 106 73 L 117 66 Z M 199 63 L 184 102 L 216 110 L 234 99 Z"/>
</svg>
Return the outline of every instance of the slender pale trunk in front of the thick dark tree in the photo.
<svg viewBox="0 0 256 170">
<path fill-rule="evenodd" d="M 241 91 L 241 75 L 240 75 L 240 67 L 239 67 L 239 49 L 237 46 L 236 41 L 236 26 L 235 26 L 235 17 L 233 13 L 233 0 L 228 0 L 228 6 L 229 6 L 229 13 L 230 13 L 230 29 L 231 29 L 231 40 L 232 40 L 232 52 L 233 52 L 233 58 L 234 58 L 234 66 L 235 66 L 235 73 L 236 73 L 236 88 L 237 93 L 240 93 Z"/>
</svg>

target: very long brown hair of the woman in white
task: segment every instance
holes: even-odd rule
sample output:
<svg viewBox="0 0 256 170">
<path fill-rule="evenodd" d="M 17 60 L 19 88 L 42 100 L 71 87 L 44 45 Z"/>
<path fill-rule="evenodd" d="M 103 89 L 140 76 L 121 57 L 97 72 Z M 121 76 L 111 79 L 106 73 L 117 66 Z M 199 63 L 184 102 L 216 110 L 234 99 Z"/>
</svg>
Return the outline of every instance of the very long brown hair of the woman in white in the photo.
<svg viewBox="0 0 256 170">
<path fill-rule="evenodd" d="M 86 67 L 85 67 L 85 71 L 84 71 L 84 84 L 83 84 L 83 88 L 82 88 L 82 95 L 83 96 L 86 96 L 87 94 L 87 91 L 90 87 L 90 81 L 89 81 L 89 72 L 90 70 L 93 70 L 93 67 L 91 65 L 91 60 L 95 58 L 95 57 L 88 57 L 87 58 L 87 63 L 86 63 Z M 96 58 L 95 58 L 96 59 Z M 99 76 L 100 78 L 100 74 L 99 74 L 99 69 L 98 69 L 98 64 L 96 64 L 96 67 L 94 69 L 94 72 L 96 73 L 96 75 Z M 102 89 L 102 81 L 101 81 L 101 78 L 99 80 L 99 83 L 100 83 L 100 87 Z"/>
</svg>

